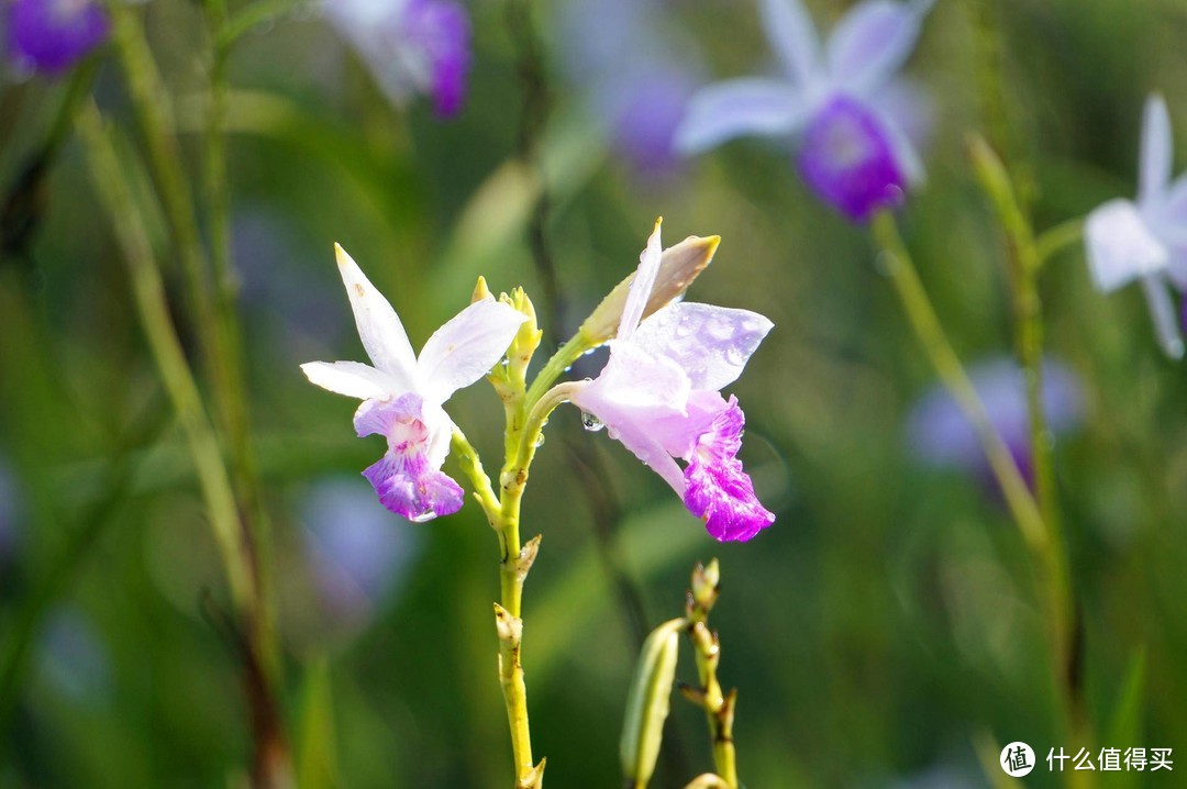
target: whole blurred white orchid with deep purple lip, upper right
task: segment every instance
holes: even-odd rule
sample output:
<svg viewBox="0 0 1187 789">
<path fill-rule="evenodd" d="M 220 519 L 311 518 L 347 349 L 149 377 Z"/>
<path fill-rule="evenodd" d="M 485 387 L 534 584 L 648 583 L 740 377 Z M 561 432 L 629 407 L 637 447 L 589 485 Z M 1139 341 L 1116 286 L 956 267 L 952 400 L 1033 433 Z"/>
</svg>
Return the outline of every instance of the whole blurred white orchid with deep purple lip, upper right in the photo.
<svg viewBox="0 0 1187 789">
<path fill-rule="evenodd" d="M 699 153 L 741 135 L 798 138 L 804 179 L 849 218 L 902 199 L 923 179 L 910 141 L 922 98 L 895 72 L 910 55 L 934 0 L 863 0 L 824 44 L 800 0 L 760 0 L 782 78 L 744 77 L 704 88 L 677 129 Z"/>
</svg>

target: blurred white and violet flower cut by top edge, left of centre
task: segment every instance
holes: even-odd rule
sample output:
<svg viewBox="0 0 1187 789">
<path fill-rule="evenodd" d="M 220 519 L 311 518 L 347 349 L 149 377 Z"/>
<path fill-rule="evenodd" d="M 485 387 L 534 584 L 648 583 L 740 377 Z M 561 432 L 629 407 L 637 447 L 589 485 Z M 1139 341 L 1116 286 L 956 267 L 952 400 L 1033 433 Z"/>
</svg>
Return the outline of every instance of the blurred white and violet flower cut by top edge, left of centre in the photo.
<svg viewBox="0 0 1187 789">
<path fill-rule="evenodd" d="M 396 106 L 431 96 L 437 114 L 455 115 L 470 70 L 470 19 L 451 0 L 326 0 L 330 23 L 367 62 Z"/>
</svg>

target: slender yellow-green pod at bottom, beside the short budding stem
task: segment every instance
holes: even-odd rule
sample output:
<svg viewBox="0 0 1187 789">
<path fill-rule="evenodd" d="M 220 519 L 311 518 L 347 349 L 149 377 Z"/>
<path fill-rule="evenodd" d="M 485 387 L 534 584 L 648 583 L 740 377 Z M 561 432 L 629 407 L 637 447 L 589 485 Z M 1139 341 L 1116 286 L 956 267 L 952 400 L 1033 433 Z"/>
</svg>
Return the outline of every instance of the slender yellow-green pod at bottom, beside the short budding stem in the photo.
<svg viewBox="0 0 1187 789">
<path fill-rule="evenodd" d="M 623 775 L 636 789 L 645 789 L 655 772 L 675 680 L 679 636 L 687 625 L 683 617 L 665 622 L 647 636 L 639 654 L 618 743 Z"/>
</svg>

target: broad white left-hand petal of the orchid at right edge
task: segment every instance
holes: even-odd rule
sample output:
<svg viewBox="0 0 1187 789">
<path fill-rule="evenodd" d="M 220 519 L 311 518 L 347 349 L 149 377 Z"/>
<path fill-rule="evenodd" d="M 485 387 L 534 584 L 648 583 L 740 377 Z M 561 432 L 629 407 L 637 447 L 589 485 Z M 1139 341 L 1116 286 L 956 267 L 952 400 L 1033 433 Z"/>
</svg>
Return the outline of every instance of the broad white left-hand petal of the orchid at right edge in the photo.
<svg viewBox="0 0 1187 789">
<path fill-rule="evenodd" d="M 1166 268 L 1170 259 L 1137 206 L 1125 199 L 1110 201 L 1088 214 L 1084 241 L 1092 281 L 1105 293 Z"/>
</svg>

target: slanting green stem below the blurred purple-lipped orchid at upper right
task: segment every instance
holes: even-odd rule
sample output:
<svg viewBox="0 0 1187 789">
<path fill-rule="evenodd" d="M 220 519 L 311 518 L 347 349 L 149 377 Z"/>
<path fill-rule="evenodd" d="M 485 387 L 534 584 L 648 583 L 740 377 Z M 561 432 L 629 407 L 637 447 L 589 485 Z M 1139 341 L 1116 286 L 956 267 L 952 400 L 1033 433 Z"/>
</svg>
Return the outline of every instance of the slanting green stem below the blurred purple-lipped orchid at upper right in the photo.
<svg viewBox="0 0 1187 789">
<path fill-rule="evenodd" d="M 952 344 L 944 333 L 935 308 L 923 289 L 923 284 L 919 280 L 915 265 L 899 236 L 894 216 L 888 212 L 876 215 L 871 230 L 875 242 L 882 250 L 886 272 L 894 284 L 895 293 L 902 303 L 915 338 L 923 348 L 944 386 L 947 387 L 965 418 L 972 424 L 990 469 L 1002 488 L 1007 507 L 1017 522 L 1023 539 L 1032 549 L 1041 553 L 1047 542 L 1047 529 L 1043 526 L 1039 505 L 1030 495 L 1027 483 L 1022 479 L 1009 448 L 989 421 L 985 406 L 980 402 L 972 381 L 969 380 L 967 373 L 965 373 Z"/>
</svg>

